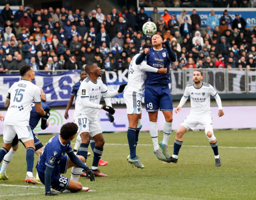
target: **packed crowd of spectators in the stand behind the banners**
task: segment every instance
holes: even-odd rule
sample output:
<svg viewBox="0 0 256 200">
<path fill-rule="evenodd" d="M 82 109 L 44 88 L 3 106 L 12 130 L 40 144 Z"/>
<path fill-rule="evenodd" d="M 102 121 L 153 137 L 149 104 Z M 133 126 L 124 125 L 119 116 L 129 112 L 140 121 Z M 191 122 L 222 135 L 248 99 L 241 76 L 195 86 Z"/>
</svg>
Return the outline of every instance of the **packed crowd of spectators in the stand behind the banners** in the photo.
<svg viewBox="0 0 256 200">
<path fill-rule="evenodd" d="M 239 2 L 242 7 L 248 1 Z M 150 16 L 144 8 L 138 13 L 133 8 L 117 13 L 114 8 L 104 14 L 101 8 L 73 12 L 52 7 L 24 10 L 23 6 L 14 14 L 6 4 L 0 14 L 0 72 L 19 70 L 26 63 L 35 71 L 84 69 L 89 62 L 105 70 L 128 68 L 143 44 L 151 43 L 151 37 L 142 33 L 147 21 L 154 22 L 157 34 L 170 40 L 177 55 L 174 70 L 255 68 L 256 26 L 250 30 L 239 13 L 232 20 L 223 10 L 220 20 L 212 10 L 207 27 L 201 27 L 197 11 L 188 15 L 185 8 L 177 18 L 167 10 L 160 15 L 157 7 Z"/>
</svg>

